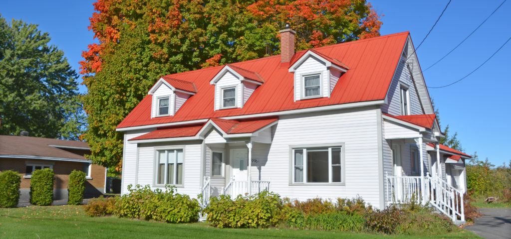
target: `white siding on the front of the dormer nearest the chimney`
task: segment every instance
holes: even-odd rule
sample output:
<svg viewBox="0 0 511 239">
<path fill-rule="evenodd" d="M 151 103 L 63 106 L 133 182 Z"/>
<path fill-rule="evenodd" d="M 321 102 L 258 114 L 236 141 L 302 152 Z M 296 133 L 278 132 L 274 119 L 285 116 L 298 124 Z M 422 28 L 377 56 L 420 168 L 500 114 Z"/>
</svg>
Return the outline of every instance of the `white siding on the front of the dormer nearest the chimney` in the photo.
<svg viewBox="0 0 511 239">
<path fill-rule="evenodd" d="M 322 96 L 327 97 L 330 90 L 330 75 L 328 75 L 327 66 L 314 57 L 309 57 L 294 72 L 294 99 L 300 100 L 301 96 L 301 76 L 321 72 Z"/>
</svg>

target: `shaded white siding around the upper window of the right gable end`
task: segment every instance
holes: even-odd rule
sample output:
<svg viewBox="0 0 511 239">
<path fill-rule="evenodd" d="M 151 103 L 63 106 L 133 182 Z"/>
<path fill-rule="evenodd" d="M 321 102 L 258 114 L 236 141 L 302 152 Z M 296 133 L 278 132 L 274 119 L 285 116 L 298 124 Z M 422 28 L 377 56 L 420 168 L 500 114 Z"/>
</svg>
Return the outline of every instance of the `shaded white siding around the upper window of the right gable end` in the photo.
<svg viewBox="0 0 511 239">
<path fill-rule="evenodd" d="M 399 62 L 396 74 L 390 83 L 388 90 L 387 101 L 388 104 L 382 106 L 382 111 L 391 115 L 401 115 L 401 86 L 406 86 L 410 94 L 410 114 L 422 115 L 423 110 L 417 96 L 417 91 L 412 82 L 410 71 L 408 70 L 404 58 Z"/>
</svg>

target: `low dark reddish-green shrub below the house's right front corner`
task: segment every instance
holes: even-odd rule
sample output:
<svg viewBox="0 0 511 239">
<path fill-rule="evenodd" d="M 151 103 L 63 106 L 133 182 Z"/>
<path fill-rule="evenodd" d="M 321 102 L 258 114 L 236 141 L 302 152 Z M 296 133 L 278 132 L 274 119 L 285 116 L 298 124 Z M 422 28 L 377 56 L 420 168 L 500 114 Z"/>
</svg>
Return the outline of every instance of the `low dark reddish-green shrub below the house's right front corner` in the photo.
<svg viewBox="0 0 511 239">
<path fill-rule="evenodd" d="M 395 206 L 375 210 L 367 216 L 365 225 L 375 232 L 392 234 L 403 220 L 403 211 Z"/>
</svg>

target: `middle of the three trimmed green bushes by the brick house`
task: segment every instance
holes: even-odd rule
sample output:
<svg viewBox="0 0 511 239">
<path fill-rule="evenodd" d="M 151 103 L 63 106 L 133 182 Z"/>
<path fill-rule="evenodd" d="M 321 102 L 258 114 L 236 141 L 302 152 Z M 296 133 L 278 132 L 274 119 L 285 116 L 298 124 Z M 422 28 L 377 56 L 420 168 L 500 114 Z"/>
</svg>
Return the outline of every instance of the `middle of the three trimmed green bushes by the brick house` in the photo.
<svg viewBox="0 0 511 239">
<path fill-rule="evenodd" d="M 39 169 L 32 173 L 30 179 L 30 203 L 38 206 L 48 206 L 53 202 L 52 169 Z"/>
</svg>

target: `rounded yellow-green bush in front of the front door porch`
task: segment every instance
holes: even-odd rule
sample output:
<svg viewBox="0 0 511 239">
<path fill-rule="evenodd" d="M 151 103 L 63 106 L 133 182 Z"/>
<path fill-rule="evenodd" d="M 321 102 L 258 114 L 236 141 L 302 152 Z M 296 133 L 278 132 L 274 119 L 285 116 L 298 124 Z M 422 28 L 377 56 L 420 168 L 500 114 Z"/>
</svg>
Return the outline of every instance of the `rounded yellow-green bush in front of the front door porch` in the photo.
<svg viewBox="0 0 511 239">
<path fill-rule="evenodd" d="M 275 226 L 281 220 L 283 201 L 278 194 L 261 192 L 248 197 L 221 195 L 210 200 L 204 209 L 211 225 L 224 228 L 257 228 Z"/>
</svg>

